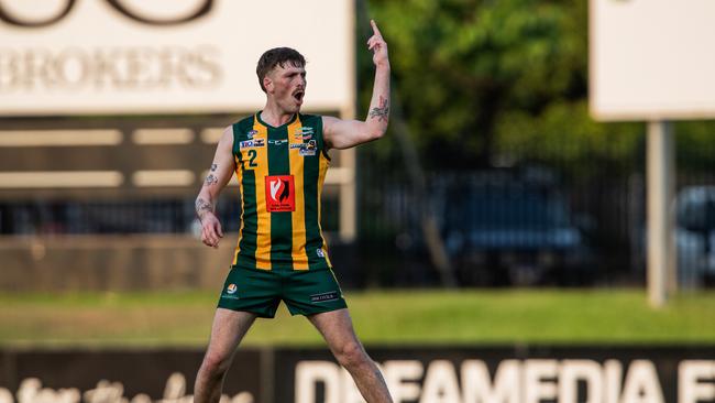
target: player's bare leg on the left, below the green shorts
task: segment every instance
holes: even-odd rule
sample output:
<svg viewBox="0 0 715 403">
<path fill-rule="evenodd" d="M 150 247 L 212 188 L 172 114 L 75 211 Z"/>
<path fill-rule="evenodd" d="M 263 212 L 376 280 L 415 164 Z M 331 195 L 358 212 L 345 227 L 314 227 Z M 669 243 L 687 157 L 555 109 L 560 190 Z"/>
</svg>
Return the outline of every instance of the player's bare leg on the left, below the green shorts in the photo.
<svg viewBox="0 0 715 403">
<path fill-rule="evenodd" d="M 231 366 L 237 347 L 255 320 L 255 315 L 224 308 L 216 309 L 211 340 L 194 385 L 195 403 L 218 403 L 223 378 Z"/>
</svg>

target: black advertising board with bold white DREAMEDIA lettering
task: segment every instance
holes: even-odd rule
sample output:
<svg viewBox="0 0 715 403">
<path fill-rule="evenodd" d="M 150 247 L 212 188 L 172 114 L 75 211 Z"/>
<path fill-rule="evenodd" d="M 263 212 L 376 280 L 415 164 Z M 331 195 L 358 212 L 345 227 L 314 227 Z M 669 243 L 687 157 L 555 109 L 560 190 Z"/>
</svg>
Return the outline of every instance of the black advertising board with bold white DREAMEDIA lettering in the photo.
<svg viewBox="0 0 715 403">
<path fill-rule="evenodd" d="M 395 402 L 704 403 L 715 402 L 714 348 L 369 349 Z M 276 401 L 363 402 L 329 356 L 279 351 L 277 379 L 293 379 Z"/>
</svg>

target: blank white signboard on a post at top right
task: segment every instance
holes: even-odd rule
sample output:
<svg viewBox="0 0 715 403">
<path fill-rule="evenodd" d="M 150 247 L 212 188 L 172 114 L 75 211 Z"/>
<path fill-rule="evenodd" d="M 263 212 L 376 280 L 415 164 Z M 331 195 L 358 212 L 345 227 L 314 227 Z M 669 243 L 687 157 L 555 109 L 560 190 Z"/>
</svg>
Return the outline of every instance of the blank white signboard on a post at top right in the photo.
<svg viewBox="0 0 715 403">
<path fill-rule="evenodd" d="M 591 0 L 598 120 L 715 117 L 715 1 Z"/>
</svg>

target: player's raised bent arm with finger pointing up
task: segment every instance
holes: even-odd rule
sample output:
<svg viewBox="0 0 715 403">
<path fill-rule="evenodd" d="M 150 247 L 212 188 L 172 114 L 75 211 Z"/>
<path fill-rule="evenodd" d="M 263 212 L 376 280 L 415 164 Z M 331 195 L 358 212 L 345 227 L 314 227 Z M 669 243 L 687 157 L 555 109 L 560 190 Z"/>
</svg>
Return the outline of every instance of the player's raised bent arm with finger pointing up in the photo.
<svg viewBox="0 0 715 403">
<path fill-rule="evenodd" d="M 370 112 L 364 121 L 342 120 L 323 117 L 323 135 L 331 149 L 349 149 L 358 144 L 380 139 L 387 130 L 389 121 L 389 58 L 387 43 L 377 29 L 375 21 L 370 21 L 373 35 L 367 40 L 367 48 L 373 51 L 375 64 L 375 83 Z"/>
</svg>

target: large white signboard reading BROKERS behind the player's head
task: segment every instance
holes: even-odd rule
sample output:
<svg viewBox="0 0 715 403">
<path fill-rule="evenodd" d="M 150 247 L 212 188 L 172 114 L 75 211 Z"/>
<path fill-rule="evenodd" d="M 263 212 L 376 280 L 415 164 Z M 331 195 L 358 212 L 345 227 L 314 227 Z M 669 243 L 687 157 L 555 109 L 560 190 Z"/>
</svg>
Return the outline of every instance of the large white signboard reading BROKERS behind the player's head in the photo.
<svg viewBox="0 0 715 403">
<path fill-rule="evenodd" d="M 352 0 L 0 0 L 0 116 L 253 111 L 277 46 L 308 61 L 305 109 L 349 110 L 353 20 Z"/>
</svg>

